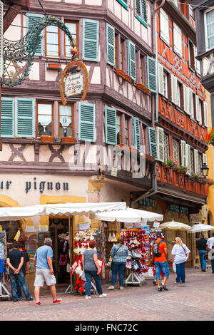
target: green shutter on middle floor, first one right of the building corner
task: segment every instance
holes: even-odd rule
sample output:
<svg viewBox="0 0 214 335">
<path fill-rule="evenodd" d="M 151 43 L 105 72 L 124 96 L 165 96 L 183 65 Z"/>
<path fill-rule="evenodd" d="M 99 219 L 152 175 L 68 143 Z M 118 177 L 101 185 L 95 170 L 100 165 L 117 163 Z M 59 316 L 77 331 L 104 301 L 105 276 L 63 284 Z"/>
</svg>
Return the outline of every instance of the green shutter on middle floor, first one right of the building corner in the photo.
<svg viewBox="0 0 214 335">
<path fill-rule="evenodd" d="M 117 142 L 117 112 L 115 108 L 105 108 L 106 118 L 106 143 L 115 145 Z"/>
</svg>

